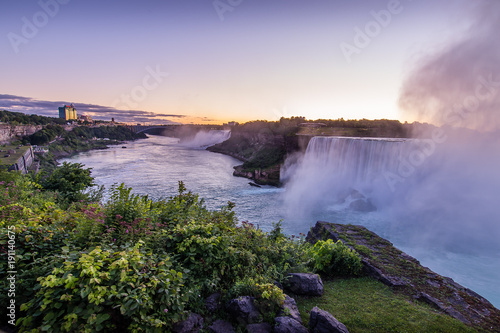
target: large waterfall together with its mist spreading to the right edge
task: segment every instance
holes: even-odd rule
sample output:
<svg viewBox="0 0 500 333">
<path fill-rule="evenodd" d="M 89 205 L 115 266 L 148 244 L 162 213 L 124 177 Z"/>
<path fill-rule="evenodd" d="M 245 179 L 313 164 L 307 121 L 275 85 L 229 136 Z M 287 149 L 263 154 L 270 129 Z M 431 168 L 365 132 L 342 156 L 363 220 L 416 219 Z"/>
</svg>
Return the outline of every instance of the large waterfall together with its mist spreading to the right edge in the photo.
<svg viewBox="0 0 500 333">
<path fill-rule="evenodd" d="M 459 130 L 434 139 L 314 137 L 283 170 L 283 203 L 304 219 L 376 209 L 415 242 L 500 255 L 499 146 L 494 133 Z"/>
</svg>

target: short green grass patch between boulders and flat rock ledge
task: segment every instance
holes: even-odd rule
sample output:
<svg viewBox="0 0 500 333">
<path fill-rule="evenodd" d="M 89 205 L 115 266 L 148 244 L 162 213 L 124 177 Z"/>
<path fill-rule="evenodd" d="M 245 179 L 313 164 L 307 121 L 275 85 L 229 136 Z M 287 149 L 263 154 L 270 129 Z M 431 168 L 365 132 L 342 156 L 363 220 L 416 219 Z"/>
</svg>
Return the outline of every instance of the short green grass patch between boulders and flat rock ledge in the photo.
<svg viewBox="0 0 500 333">
<path fill-rule="evenodd" d="M 322 297 L 295 297 L 305 324 L 309 322 L 309 311 L 317 306 L 346 325 L 350 333 L 477 332 L 425 304 L 410 302 L 407 296 L 397 295 L 371 278 L 323 283 Z"/>
</svg>

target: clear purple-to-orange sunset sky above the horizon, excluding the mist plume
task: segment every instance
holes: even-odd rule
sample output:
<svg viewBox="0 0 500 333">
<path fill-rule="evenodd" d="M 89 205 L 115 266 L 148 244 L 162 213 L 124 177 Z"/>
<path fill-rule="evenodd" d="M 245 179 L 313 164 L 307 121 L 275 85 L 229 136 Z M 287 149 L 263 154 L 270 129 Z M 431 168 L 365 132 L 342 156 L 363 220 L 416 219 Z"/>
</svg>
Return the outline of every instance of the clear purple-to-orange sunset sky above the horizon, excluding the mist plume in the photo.
<svg viewBox="0 0 500 333">
<path fill-rule="evenodd" d="M 470 3 L 0 0 L 0 109 L 57 117 L 73 103 L 151 124 L 414 121 L 402 84 L 466 33 Z"/>
</svg>

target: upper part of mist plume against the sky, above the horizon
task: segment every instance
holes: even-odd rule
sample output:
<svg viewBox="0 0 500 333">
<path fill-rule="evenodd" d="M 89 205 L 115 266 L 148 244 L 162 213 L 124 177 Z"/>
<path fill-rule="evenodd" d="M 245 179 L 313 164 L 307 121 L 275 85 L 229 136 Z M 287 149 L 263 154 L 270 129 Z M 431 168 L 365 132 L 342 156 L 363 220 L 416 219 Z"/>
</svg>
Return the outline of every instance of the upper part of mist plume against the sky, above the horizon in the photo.
<svg viewBox="0 0 500 333">
<path fill-rule="evenodd" d="M 500 128 L 500 2 L 475 1 L 464 37 L 424 57 L 404 82 L 400 107 L 419 120 Z"/>
</svg>

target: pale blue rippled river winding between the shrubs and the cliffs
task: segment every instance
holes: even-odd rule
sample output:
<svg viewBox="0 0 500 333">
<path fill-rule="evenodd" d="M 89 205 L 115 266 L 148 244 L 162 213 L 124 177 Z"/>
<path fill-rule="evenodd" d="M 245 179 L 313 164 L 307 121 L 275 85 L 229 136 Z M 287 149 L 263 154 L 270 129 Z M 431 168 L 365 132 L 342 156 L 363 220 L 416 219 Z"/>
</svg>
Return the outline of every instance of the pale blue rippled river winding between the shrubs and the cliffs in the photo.
<svg viewBox="0 0 500 333">
<path fill-rule="evenodd" d="M 496 256 L 419 246 L 408 242 L 405 232 L 389 223 L 384 212 L 357 212 L 348 209 L 345 203 L 318 205 L 306 214 L 290 214 L 290 207 L 285 202 L 289 195 L 286 188 L 250 186 L 248 179 L 232 176 L 233 166 L 241 164 L 240 161 L 206 151 L 199 145 L 150 136 L 106 150 L 80 153 L 60 162 L 64 161 L 92 168 L 96 183 L 106 188 L 125 183 L 134 193 L 147 194 L 154 199 L 175 195 L 178 181 L 183 181 L 188 190 L 205 199 L 209 209 L 234 202 L 239 221 L 248 221 L 265 231 L 279 221 L 290 235 L 307 233 L 318 220 L 364 225 L 416 257 L 423 265 L 452 277 L 500 307 L 500 269 Z"/>
</svg>

